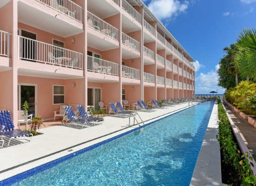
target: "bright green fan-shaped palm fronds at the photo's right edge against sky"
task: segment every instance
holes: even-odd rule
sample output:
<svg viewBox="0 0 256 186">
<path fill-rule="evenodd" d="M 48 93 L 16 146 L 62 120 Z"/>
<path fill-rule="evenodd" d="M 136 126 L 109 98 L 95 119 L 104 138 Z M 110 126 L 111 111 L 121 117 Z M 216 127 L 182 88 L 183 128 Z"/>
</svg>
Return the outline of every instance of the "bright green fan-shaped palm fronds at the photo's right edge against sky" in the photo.
<svg viewBox="0 0 256 186">
<path fill-rule="evenodd" d="M 243 78 L 256 81 L 256 29 L 244 29 L 237 39 L 235 65 Z"/>
</svg>

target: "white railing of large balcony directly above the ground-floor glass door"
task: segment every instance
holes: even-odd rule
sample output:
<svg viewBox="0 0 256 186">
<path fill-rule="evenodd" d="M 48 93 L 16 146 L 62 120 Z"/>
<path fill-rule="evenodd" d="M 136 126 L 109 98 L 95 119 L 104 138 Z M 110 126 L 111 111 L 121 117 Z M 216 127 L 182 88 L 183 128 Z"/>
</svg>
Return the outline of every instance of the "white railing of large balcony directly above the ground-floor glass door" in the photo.
<svg viewBox="0 0 256 186">
<path fill-rule="evenodd" d="M 83 54 L 59 46 L 50 45 L 18 36 L 18 55 L 20 60 L 30 60 L 45 64 L 83 69 Z"/>
</svg>

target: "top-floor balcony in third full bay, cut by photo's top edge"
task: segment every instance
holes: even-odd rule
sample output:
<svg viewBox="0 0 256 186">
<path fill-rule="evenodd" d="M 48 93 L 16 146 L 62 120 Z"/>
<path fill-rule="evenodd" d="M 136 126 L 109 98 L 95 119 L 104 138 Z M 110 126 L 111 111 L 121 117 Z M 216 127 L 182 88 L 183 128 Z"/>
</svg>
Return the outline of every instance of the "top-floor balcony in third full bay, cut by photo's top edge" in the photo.
<svg viewBox="0 0 256 186">
<path fill-rule="evenodd" d="M 141 30 L 141 14 L 126 0 L 122 0 L 122 31 L 125 33 Z"/>
</svg>

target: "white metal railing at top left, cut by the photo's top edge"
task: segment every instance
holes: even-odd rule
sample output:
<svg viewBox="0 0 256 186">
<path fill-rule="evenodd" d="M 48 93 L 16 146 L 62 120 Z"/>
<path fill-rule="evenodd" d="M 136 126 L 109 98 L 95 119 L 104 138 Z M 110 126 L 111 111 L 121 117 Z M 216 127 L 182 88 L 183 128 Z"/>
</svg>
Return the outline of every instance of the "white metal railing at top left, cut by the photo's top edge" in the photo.
<svg viewBox="0 0 256 186">
<path fill-rule="evenodd" d="M 72 0 L 36 0 L 43 3 L 58 12 L 67 15 L 78 22 L 83 21 L 83 8 L 75 4 Z"/>
</svg>

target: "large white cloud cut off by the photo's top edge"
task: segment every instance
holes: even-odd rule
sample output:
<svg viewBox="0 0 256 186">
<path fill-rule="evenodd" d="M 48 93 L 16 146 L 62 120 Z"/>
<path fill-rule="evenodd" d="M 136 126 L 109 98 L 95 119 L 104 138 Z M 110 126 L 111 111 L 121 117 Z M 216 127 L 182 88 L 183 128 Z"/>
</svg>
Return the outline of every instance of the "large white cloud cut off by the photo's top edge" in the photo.
<svg viewBox="0 0 256 186">
<path fill-rule="evenodd" d="M 189 1 L 185 0 L 181 3 L 179 0 L 151 0 L 148 4 L 149 10 L 159 20 L 170 20 L 181 13 L 186 12 L 189 7 Z"/>
</svg>

